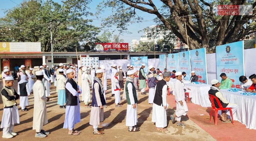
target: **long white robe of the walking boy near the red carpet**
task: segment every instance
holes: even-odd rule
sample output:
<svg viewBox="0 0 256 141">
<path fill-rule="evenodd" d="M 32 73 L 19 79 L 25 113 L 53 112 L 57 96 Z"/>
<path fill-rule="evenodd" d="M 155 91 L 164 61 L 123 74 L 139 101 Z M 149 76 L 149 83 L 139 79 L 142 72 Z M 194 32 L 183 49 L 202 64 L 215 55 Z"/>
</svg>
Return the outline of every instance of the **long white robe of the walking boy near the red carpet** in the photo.
<svg viewBox="0 0 256 141">
<path fill-rule="evenodd" d="M 185 92 L 184 87 L 180 80 L 176 80 L 174 83 L 174 95 L 176 100 L 176 112 L 175 115 L 177 116 L 177 121 L 180 121 L 181 115 L 185 116 L 187 114 L 188 108 L 185 102 Z M 183 106 L 180 105 L 179 101 L 183 102 Z"/>
</svg>

